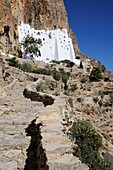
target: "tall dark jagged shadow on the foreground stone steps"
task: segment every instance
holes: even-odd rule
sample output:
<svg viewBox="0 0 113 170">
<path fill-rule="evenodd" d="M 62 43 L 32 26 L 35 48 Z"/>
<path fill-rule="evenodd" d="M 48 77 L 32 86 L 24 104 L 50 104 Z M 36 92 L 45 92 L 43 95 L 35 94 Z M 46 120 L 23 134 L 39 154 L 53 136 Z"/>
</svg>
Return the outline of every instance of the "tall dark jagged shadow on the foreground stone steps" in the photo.
<svg viewBox="0 0 113 170">
<path fill-rule="evenodd" d="M 28 149 L 26 150 L 27 159 L 24 170 L 49 170 L 47 157 L 41 142 L 41 126 L 42 123 L 36 123 L 36 119 L 34 119 L 25 129 L 26 136 L 31 136 L 31 141 Z"/>
</svg>

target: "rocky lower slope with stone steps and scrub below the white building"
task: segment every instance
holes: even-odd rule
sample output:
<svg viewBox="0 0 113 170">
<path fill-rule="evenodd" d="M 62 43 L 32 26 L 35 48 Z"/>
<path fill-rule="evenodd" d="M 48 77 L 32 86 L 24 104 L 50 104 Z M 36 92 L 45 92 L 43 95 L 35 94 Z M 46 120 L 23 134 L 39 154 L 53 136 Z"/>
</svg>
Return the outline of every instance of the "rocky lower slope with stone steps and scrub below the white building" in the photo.
<svg viewBox="0 0 113 170">
<path fill-rule="evenodd" d="M 88 170 L 93 165 L 77 151 L 77 155 L 74 153 L 79 145 L 68 136 L 73 122 L 78 121 L 85 121 L 86 127 L 90 122 L 100 136 L 96 135 L 101 143 L 99 160 L 95 160 L 100 161 L 101 169 L 113 169 L 113 77 L 102 65 L 96 61 L 91 65 L 90 60 L 80 67 L 70 67 L 69 63 L 33 63 L 2 56 L 0 59 L 0 166 L 3 170 L 31 166 L 40 170 Z M 94 134 L 90 138 L 93 147 L 97 145 Z M 44 160 L 43 164 L 38 158 Z M 110 168 L 104 160 L 110 162 Z"/>
</svg>

